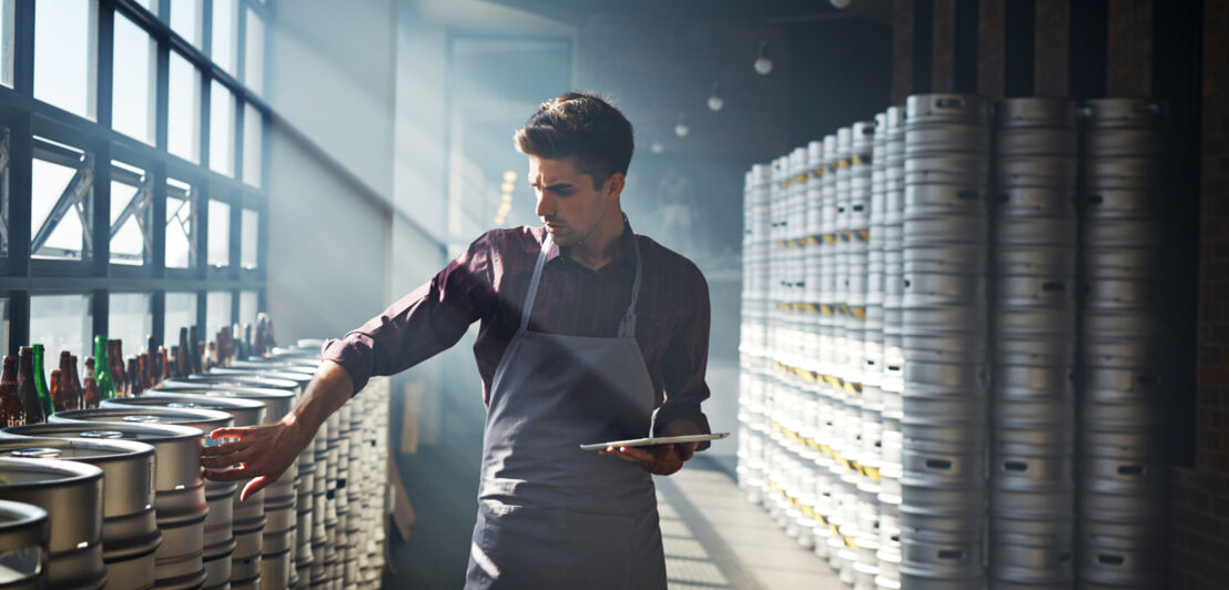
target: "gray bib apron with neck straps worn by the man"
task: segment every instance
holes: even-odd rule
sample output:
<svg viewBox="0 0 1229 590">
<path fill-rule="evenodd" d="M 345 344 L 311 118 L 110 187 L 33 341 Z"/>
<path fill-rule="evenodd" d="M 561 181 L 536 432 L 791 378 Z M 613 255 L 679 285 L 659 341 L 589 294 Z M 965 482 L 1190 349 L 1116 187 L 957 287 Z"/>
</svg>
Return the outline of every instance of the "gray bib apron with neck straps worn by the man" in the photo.
<svg viewBox="0 0 1229 590">
<path fill-rule="evenodd" d="M 492 382 L 465 588 L 664 590 L 651 476 L 578 446 L 651 430 L 653 381 L 635 342 L 640 248 L 618 337 L 594 338 L 528 331 L 551 243 L 548 234 Z"/>
</svg>

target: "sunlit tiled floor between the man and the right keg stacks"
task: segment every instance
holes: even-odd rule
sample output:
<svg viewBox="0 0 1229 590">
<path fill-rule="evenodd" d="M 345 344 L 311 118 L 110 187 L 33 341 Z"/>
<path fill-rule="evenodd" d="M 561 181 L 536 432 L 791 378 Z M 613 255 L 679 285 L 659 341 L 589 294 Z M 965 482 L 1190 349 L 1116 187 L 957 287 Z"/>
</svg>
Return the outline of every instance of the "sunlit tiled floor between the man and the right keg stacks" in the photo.
<svg viewBox="0 0 1229 590">
<path fill-rule="evenodd" d="M 671 590 L 846 590 L 703 456 L 656 478 Z"/>
</svg>

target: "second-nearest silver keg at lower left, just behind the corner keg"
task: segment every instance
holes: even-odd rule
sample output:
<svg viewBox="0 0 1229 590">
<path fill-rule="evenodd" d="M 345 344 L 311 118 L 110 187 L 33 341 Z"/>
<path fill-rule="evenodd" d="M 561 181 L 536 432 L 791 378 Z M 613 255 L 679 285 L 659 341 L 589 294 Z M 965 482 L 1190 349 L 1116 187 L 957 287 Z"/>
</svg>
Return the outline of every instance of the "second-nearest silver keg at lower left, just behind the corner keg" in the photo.
<svg viewBox="0 0 1229 590">
<path fill-rule="evenodd" d="M 0 472 L 5 476 L 0 482 L 0 500 L 7 500 L 5 504 L 31 504 L 47 514 L 59 515 L 47 522 L 50 529 L 47 588 L 103 588 L 107 568 L 102 562 L 102 470 L 75 461 L 0 458 Z M 28 513 L 31 519 L 38 516 Z M 29 545 L 27 537 L 20 547 Z M 22 557 L 28 564 L 31 556 L 25 553 Z M 28 565 L 15 569 L 23 572 L 20 578 L 29 578 Z"/>
</svg>

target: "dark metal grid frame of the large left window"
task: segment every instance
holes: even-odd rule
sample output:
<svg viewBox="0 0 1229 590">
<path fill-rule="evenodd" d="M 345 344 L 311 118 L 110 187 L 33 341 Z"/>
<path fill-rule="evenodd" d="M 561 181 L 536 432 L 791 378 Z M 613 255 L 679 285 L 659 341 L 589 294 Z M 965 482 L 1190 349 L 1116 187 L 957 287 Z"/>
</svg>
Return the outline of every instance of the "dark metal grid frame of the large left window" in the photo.
<svg viewBox="0 0 1229 590">
<path fill-rule="evenodd" d="M 59 107 L 44 103 L 33 97 L 34 82 L 34 9 L 36 1 L 54 0 L 16 0 L 14 18 L 14 85 L 0 86 L 0 125 L 10 132 L 9 145 L 9 252 L 0 254 L 0 297 L 9 300 L 9 350 L 17 354 L 21 345 L 29 339 L 31 297 L 57 294 L 87 294 L 92 313 L 93 333 L 106 334 L 109 322 L 109 296 L 112 293 L 146 293 L 151 296 L 151 332 L 161 340 L 165 333 L 165 295 L 168 291 L 189 291 L 197 294 L 197 324 L 203 334 L 216 332 L 218 327 L 204 326 L 206 317 L 206 294 L 209 291 L 230 291 L 230 316 L 237 318 L 238 302 L 242 291 L 256 291 L 257 310 L 265 311 L 265 285 L 268 261 L 268 189 L 253 187 L 243 182 L 243 118 L 246 107 L 251 104 L 262 116 L 259 177 L 267 184 L 268 175 L 268 128 L 273 117 L 269 106 L 256 92 L 247 88 L 240 80 L 246 73 L 247 36 L 246 21 L 248 11 L 265 23 L 264 48 L 261 52 L 267 59 L 269 52 L 268 25 L 275 10 L 273 2 L 256 0 L 237 0 L 236 11 L 236 55 L 235 74 L 230 74 L 209 58 L 213 38 L 213 4 L 203 0 L 200 4 L 200 36 L 198 48 L 181 37 L 170 26 L 172 0 L 157 0 L 156 11 L 146 10 L 135 0 L 96 0 L 92 9 L 97 10 L 98 34 L 96 39 L 92 68 L 96 96 L 95 119 L 76 116 Z M 226 0 L 219 0 L 226 1 Z M 181 5 L 182 6 L 182 5 Z M 149 33 L 155 44 L 156 100 L 154 109 L 154 145 L 130 138 L 111 128 L 113 102 L 113 57 L 116 12 L 120 12 L 138 27 Z M 184 57 L 202 76 L 198 113 L 199 162 L 181 159 L 167 151 L 168 128 L 168 70 L 171 50 Z M 268 66 L 262 68 L 268 76 Z M 232 129 L 234 162 L 232 175 L 221 175 L 209 167 L 209 114 L 210 86 L 220 82 L 230 90 L 235 98 L 235 128 Z M 32 259 L 31 229 L 32 216 L 32 162 L 34 136 L 80 149 L 93 157 L 93 194 L 91 204 L 90 257 L 82 261 Z M 152 184 L 151 215 L 154 222 L 152 251 L 141 266 L 111 263 L 111 181 L 112 161 L 128 163 L 145 171 Z M 192 240 L 197 248 L 197 259 L 187 269 L 166 267 L 166 204 L 167 178 L 183 181 L 192 186 Z M 210 199 L 221 200 L 231 206 L 230 264 L 225 268 L 210 268 L 208 264 Z M 241 266 L 242 210 L 252 209 L 258 214 L 257 268 L 243 269 Z M 160 344 L 167 344 L 161 343 Z M 170 343 L 175 344 L 175 343 Z M 132 344 L 130 344 L 132 345 Z M 144 343 L 141 343 L 144 348 Z M 57 352 L 58 353 L 58 352 Z M 87 356 L 90 350 L 75 352 Z"/>
</svg>

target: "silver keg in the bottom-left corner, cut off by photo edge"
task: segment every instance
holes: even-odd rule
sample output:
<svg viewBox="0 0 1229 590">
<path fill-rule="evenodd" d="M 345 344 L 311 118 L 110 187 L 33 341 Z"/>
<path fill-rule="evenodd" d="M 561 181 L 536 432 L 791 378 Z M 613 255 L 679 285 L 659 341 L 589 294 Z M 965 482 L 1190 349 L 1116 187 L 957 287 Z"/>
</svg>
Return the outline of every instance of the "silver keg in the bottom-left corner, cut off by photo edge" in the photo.
<svg viewBox="0 0 1229 590">
<path fill-rule="evenodd" d="M 50 520 L 33 504 L 0 500 L 0 547 L 5 548 L 4 586 L 39 590 L 47 586 L 47 542 Z"/>
</svg>

